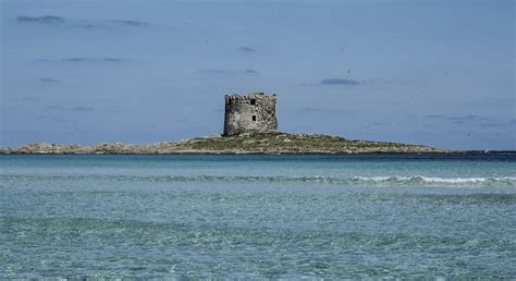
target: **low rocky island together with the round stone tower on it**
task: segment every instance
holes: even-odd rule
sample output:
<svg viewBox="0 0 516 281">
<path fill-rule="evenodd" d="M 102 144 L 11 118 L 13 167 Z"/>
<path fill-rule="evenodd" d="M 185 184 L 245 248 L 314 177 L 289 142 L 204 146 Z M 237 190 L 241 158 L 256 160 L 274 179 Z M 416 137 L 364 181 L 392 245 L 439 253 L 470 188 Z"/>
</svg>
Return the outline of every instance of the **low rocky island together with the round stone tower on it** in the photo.
<svg viewBox="0 0 516 281">
<path fill-rule="evenodd" d="M 277 95 L 226 95 L 224 133 L 150 145 L 105 143 L 94 146 L 27 144 L 0 154 L 425 154 L 428 146 L 353 140 L 339 136 L 278 131 Z"/>
</svg>

